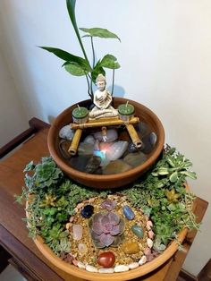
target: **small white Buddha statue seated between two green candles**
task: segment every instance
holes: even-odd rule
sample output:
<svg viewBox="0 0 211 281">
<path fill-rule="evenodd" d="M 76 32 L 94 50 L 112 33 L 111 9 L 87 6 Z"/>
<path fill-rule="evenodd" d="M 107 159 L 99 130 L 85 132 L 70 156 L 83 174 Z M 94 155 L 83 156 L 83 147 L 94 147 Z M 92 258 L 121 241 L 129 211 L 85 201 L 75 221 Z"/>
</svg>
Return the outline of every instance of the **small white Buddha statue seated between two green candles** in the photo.
<svg viewBox="0 0 211 281">
<path fill-rule="evenodd" d="M 98 119 L 102 117 L 114 117 L 118 115 L 118 111 L 111 106 L 112 95 L 109 93 L 106 86 L 105 76 L 98 74 L 97 79 L 97 90 L 94 93 L 94 107 L 89 113 L 89 117 L 92 119 Z"/>
</svg>

